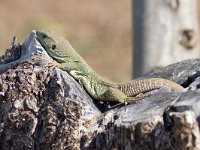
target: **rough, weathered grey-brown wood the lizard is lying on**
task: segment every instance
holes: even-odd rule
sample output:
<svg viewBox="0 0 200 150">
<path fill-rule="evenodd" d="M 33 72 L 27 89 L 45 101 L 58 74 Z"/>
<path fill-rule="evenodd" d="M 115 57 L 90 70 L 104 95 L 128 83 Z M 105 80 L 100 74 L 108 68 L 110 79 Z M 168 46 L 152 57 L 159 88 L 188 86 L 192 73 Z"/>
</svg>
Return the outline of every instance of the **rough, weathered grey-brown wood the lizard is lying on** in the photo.
<svg viewBox="0 0 200 150">
<path fill-rule="evenodd" d="M 21 53 L 0 65 L 0 149 L 200 149 L 200 60 L 144 76 L 183 92 L 163 88 L 124 106 L 93 101 L 65 71 L 48 68 L 33 33 L 10 50 Z"/>
</svg>

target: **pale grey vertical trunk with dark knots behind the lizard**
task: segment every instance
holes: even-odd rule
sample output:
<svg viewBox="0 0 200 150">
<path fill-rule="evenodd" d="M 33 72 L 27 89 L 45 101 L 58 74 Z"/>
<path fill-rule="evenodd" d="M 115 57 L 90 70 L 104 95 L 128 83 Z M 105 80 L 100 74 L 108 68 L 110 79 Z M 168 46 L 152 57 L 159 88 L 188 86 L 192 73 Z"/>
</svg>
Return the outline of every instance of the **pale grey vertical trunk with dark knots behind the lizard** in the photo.
<svg viewBox="0 0 200 150">
<path fill-rule="evenodd" d="M 133 0 L 134 77 L 200 57 L 197 0 Z"/>
</svg>

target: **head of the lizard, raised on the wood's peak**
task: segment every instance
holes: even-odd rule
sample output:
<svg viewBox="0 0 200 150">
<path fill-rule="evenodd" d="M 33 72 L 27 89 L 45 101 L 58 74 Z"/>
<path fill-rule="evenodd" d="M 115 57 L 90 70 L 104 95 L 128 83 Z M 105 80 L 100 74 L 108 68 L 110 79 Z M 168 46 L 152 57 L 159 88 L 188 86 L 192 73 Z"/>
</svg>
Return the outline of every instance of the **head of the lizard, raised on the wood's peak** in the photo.
<svg viewBox="0 0 200 150">
<path fill-rule="evenodd" d="M 72 49 L 67 40 L 54 32 L 38 30 L 35 34 L 37 41 L 53 59 L 59 63 L 65 62 L 67 50 Z"/>
</svg>

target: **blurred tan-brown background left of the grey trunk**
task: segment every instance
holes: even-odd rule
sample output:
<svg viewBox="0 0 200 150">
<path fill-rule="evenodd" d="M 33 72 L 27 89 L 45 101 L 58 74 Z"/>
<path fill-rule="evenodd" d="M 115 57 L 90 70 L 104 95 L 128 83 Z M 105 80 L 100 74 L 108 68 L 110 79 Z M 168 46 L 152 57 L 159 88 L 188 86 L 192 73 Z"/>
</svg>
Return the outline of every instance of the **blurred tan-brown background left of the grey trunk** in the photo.
<svg viewBox="0 0 200 150">
<path fill-rule="evenodd" d="M 101 76 L 131 79 L 131 0 L 0 0 L 0 52 L 33 29 L 64 36 Z"/>
</svg>

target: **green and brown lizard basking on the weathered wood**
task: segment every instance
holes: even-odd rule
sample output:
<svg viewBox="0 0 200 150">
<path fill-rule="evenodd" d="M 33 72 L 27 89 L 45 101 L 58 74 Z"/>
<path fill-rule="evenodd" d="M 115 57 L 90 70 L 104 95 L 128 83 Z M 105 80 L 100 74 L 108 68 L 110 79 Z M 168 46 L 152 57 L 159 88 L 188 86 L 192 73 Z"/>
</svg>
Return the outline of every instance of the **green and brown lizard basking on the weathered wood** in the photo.
<svg viewBox="0 0 200 150">
<path fill-rule="evenodd" d="M 65 38 L 50 31 L 34 32 L 36 40 L 54 60 L 49 65 L 68 72 L 95 100 L 131 103 L 138 100 L 142 93 L 154 89 L 169 87 L 172 91 L 183 90 L 181 85 L 163 78 L 147 78 L 128 83 L 105 80 L 83 60 Z"/>
</svg>

